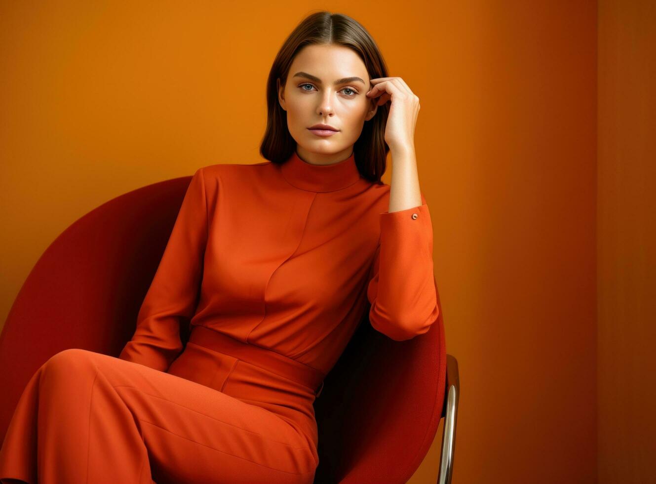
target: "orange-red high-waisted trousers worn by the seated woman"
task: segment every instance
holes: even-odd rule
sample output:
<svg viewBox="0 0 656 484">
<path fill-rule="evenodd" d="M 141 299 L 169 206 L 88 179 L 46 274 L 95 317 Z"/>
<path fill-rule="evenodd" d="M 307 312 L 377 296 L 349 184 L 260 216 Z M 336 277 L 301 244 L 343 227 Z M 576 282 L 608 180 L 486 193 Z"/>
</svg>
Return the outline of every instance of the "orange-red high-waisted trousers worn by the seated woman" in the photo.
<svg viewBox="0 0 656 484">
<path fill-rule="evenodd" d="M 312 369 L 240 342 L 226 346 L 232 354 L 199 344 L 216 334 L 194 327 L 167 372 L 85 349 L 51 357 L 14 410 L 0 479 L 312 483 L 316 392 L 296 378 Z"/>
</svg>

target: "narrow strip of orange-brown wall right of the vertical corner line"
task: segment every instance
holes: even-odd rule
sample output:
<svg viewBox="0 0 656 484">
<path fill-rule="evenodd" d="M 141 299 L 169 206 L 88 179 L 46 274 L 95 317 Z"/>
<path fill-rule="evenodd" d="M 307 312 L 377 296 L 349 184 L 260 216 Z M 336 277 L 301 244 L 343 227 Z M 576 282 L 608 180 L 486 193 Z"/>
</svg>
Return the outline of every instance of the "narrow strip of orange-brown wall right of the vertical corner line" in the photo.
<svg viewBox="0 0 656 484">
<path fill-rule="evenodd" d="M 654 482 L 656 5 L 599 2 L 599 482 Z"/>
</svg>

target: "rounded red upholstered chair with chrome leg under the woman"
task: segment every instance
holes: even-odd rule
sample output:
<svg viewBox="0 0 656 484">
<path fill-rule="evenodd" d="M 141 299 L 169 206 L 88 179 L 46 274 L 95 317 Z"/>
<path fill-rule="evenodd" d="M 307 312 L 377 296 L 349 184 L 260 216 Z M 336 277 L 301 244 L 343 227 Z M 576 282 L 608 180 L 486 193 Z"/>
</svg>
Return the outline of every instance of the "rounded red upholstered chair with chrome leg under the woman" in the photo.
<svg viewBox="0 0 656 484">
<path fill-rule="evenodd" d="M 190 180 L 163 181 L 110 200 L 41 255 L 0 334 L 0 439 L 28 380 L 52 355 L 68 348 L 119 355 L 134 333 Z M 458 395 L 442 315 L 428 333 L 409 341 L 392 341 L 360 324 L 315 403 L 316 482 L 405 483 L 442 416 L 438 480 L 450 482 Z"/>
</svg>

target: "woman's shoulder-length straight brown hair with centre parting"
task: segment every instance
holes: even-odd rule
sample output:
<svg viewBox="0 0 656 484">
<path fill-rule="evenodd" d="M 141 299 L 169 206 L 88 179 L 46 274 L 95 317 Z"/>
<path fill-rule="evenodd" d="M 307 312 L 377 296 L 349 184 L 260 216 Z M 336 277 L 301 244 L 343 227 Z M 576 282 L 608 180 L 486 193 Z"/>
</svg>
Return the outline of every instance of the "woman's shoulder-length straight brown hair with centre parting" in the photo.
<svg viewBox="0 0 656 484">
<path fill-rule="evenodd" d="M 268 118 L 260 144 L 260 154 L 274 163 L 285 162 L 296 150 L 296 141 L 287 128 L 287 112 L 278 102 L 276 81 L 285 85 L 294 57 L 306 45 L 343 45 L 355 51 L 364 62 L 369 77 L 387 77 L 387 67 L 378 46 L 356 20 L 344 14 L 316 12 L 310 14 L 285 39 L 276 55 L 266 81 Z M 353 150 L 360 175 L 369 181 L 380 182 L 386 169 L 390 147 L 385 143 L 385 124 L 389 103 L 378 106 L 373 118 L 365 121 Z"/>
</svg>

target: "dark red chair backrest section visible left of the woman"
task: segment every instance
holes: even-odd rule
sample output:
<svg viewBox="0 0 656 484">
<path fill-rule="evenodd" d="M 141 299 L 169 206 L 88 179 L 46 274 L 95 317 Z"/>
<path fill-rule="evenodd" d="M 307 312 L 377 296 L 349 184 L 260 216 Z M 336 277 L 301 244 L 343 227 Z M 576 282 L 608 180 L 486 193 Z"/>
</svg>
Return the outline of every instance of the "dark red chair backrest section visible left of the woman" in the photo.
<svg viewBox="0 0 656 484">
<path fill-rule="evenodd" d="M 83 348 L 118 356 L 134 333 L 191 177 L 138 188 L 62 232 L 23 283 L 0 334 L 0 441 L 33 373 Z"/>
</svg>

